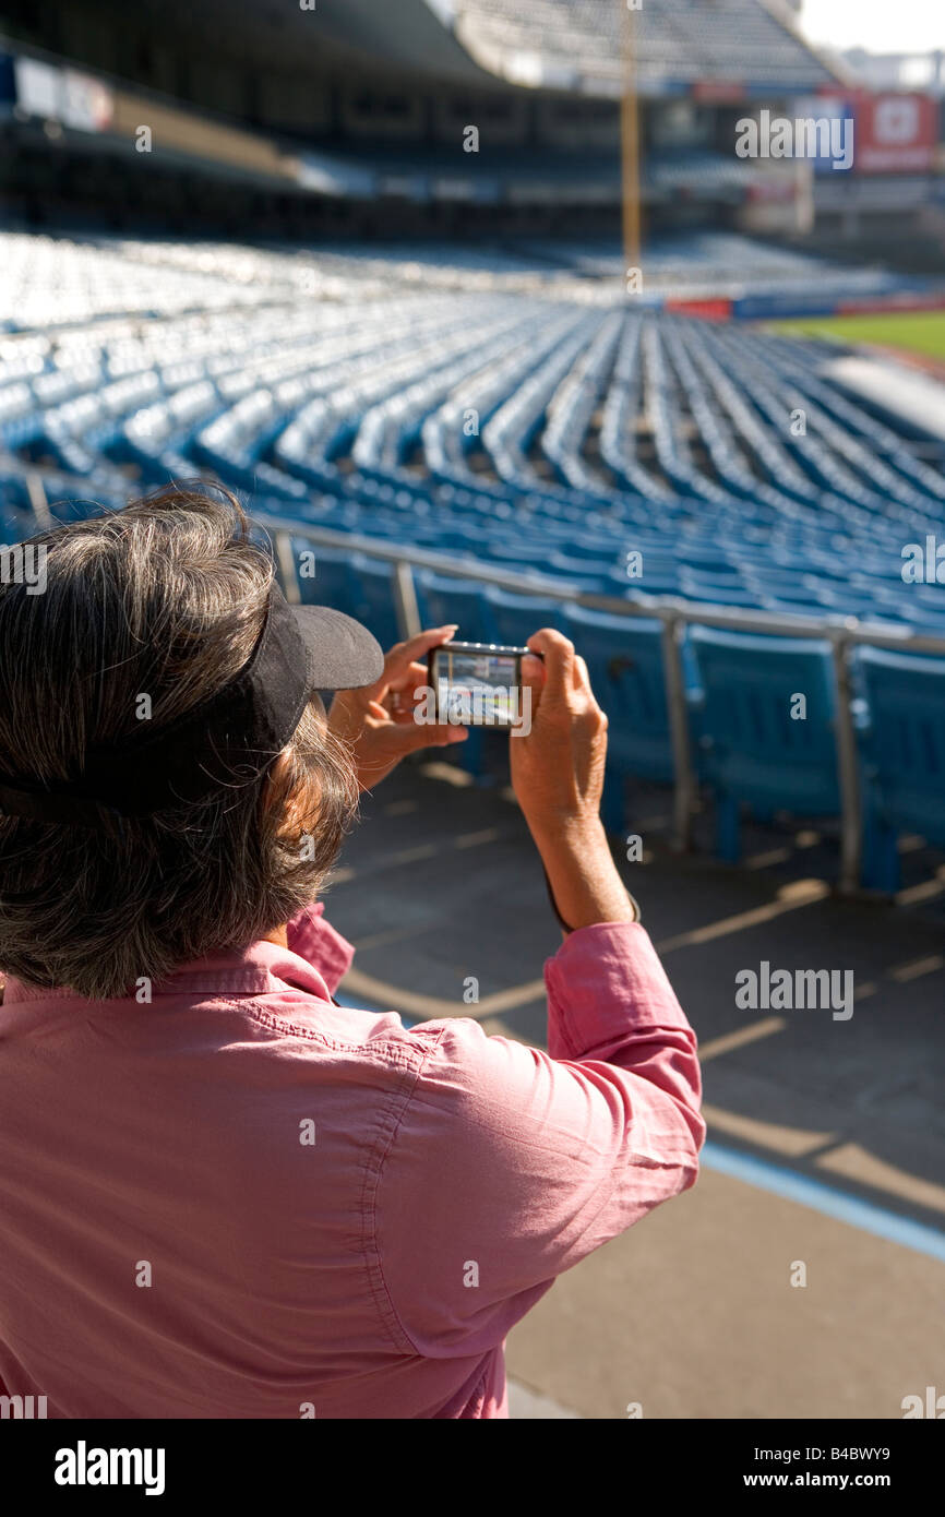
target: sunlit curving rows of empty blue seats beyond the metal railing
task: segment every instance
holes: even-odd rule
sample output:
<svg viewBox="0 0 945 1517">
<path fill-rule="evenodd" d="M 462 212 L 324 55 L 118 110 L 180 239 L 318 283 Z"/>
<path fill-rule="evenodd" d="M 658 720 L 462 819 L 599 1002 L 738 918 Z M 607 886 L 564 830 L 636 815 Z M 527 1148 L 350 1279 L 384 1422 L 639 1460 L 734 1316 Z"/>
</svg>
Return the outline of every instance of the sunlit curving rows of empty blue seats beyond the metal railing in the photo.
<svg viewBox="0 0 945 1517">
<path fill-rule="evenodd" d="M 174 244 L 144 244 L 153 282 L 126 249 L 121 314 L 102 309 L 115 249 L 56 244 L 38 328 L 47 241 L 11 240 L 0 441 L 82 493 L 214 469 L 309 520 L 587 590 L 940 625 L 901 566 L 942 473 L 815 344 L 626 303 L 419 294 L 373 267 L 309 297 L 294 256 L 196 249 L 187 269 Z"/>
</svg>

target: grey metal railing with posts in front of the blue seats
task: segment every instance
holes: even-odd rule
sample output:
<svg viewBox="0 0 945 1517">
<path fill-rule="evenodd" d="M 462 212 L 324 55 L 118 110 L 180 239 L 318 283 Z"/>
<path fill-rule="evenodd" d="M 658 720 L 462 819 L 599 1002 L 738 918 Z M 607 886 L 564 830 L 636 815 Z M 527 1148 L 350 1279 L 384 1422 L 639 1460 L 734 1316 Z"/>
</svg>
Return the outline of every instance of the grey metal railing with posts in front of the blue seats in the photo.
<svg viewBox="0 0 945 1517">
<path fill-rule="evenodd" d="M 673 840 L 680 850 L 692 843 L 692 819 L 698 799 L 698 780 L 692 755 L 689 702 L 683 672 L 683 633 L 686 627 L 722 627 L 730 631 L 769 633 L 778 637 L 808 637 L 830 642 L 836 698 L 836 757 L 840 789 L 840 881 L 845 894 L 852 894 L 860 883 L 862 862 L 862 812 L 860 812 L 860 766 L 854 725 L 852 686 L 849 674 L 851 648 L 868 643 L 871 648 L 892 648 L 899 652 L 940 654 L 945 657 L 945 637 L 916 634 L 910 628 L 893 627 L 890 622 L 866 622 L 856 616 L 815 617 L 795 614 L 772 614 L 769 611 L 746 611 L 739 607 L 711 605 L 673 596 L 649 596 L 639 593 L 634 601 L 611 595 L 589 595 L 560 579 L 542 575 L 538 570 L 496 569 L 475 560 L 457 560 L 446 552 L 426 548 L 410 548 L 405 543 L 390 543 L 385 539 L 361 537 L 353 532 L 312 526 L 308 522 L 293 522 L 285 517 L 256 513 L 253 520 L 273 539 L 276 560 L 282 572 L 285 595 L 294 604 L 302 599 L 299 570 L 291 539 L 305 539 L 325 548 L 343 548 L 347 552 L 369 554 L 394 564 L 394 604 L 402 637 L 420 631 L 413 569 L 432 569 L 437 573 L 460 579 L 482 579 L 516 595 L 549 596 L 584 605 L 592 611 L 610 611 L 616 616 L 649 617 L 663 623 L 663 678 L 666 708 L 673 755 Z"/>
</svg>

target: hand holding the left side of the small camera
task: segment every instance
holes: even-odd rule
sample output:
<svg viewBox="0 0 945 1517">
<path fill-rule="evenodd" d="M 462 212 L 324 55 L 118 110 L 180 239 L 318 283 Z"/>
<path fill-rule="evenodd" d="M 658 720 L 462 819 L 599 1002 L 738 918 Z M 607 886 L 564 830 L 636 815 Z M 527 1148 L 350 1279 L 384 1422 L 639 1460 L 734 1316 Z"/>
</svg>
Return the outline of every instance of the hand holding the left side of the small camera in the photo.
<svg viewBox="0 0 945 1517">
<path fill-rule="evenodd" d="M 434 627 L 396 643 L 384 658 L 384 674 L 376 684 L 337 692 L 328 725 L 350 748 L 363 790 L 384 780 L 403 754 L 417 748 L 446 748 L 469 737 L 464 727 L 414 719 L 428 686 L 426 661 L 419 660 L 426 660 L 431 648 L 447 643 L 455 631 L 455 627 Z"/>
</svg>

